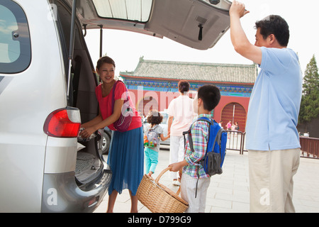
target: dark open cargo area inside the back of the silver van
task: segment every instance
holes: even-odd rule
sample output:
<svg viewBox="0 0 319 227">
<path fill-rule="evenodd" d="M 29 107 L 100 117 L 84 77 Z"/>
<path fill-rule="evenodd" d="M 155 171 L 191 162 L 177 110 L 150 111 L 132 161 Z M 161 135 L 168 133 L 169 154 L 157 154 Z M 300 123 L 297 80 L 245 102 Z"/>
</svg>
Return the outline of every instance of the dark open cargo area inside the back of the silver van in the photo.
<svg viewBox="0 0 319 227">
<path fill-rule="evenodd" d="M 60 33 L 62 54 L 65 60 L 65 73 L 67 74 L 72 9 L 64 1 L 52 1 L 52 4 L 57 7 L 56 24 Z M 74 50 L 68 106 L 79 109 L 81 121 L 85 123 L 99 114 L 99 104 L 95 95 L 98 81 L 94 72 L 94 65 L 86 48 L 81 25 L 77 20 L 74 28 Z M 103 173 L 104 177 L 105 173 L 108 173 L 107 176 L 111 179 L 111 170 L 103 160 L 101 153 L 101 133 L 103 133 L 103 130 L 94 133 L 90 140 L 78 138 L 75 177 L 78 186 L 82 190 L 89 190 L 91 188 L 90 185 L 99 181 Z M 110 179 L 104 180 L 109 181 Z"/>
</svg>

